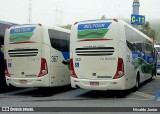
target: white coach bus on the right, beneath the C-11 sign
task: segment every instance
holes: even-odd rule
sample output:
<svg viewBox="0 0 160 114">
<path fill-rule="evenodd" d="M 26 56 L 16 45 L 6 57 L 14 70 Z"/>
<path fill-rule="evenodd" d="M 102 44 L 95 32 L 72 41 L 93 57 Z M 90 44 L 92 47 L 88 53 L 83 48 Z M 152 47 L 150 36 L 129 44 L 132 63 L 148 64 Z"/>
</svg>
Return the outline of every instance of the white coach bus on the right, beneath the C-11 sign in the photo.
<svg viewBox="0 0 160 114">
<path fill-rule="evenodd" d="M 152 78 L 154 46 L 122 20 L 76 22 L 70 38 L 73 88 L 126 90 Z"/>
</svg>

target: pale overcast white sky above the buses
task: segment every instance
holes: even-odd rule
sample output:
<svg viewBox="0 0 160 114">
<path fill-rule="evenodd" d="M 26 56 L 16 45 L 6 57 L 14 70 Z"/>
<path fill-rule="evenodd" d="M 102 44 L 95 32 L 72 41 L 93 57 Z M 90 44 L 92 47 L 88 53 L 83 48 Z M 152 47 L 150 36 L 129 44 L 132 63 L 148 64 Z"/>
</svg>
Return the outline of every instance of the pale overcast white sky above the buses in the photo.
<svg viewBox="0 0 160 114">
<path fill-rule="evenodd" d="M 27 24 L 30 0 L 0 0 L 0 20 Z M 47 26 L 106 18 L 130 19 L 133 0 L 31 0 L 33 24 Z M 160 19 L 160 0 L 139 0 L 140 15 Z"/>
</svg>

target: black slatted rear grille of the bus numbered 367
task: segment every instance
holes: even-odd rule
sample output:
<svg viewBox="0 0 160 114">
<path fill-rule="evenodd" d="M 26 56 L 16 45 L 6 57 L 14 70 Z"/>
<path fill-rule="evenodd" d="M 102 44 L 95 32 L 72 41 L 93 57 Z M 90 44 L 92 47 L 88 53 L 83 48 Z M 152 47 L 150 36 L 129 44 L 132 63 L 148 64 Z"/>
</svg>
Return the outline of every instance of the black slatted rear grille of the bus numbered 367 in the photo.
<svg viewBox="0 0 160 114">
<path fill-rule="evenodd" d="M 10 57 L 31 57 L 31 56 L 37 56 L 38 49 L 9 50 L 8 54 Z"/>
</svg>

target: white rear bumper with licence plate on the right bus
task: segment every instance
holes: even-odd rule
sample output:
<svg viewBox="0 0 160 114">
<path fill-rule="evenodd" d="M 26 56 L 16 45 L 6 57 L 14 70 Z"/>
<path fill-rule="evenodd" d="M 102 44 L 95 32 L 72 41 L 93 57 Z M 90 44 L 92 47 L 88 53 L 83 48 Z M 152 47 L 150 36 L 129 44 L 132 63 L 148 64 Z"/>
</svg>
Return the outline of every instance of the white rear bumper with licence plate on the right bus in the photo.
<svg viewBox="0 0 160 114">
<path fill-rule="evenodd" d="M 73 88 L 82 88 L 89 90 L 125 90 L 125 81 L 125 76 L 119 79 L 111 80 L 90 80 L 71 77 L 71 86 Z"/>
</svg>

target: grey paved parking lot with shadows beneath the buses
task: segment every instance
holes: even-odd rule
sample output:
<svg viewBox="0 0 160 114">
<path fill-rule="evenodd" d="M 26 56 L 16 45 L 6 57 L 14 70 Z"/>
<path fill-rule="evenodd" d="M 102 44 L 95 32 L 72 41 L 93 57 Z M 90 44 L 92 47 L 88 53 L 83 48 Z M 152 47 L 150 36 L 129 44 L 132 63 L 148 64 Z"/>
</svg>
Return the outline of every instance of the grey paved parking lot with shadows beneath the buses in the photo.
<svg viewBox="0 0 160 114">
<path fill-rule="evenodd" d="M 159 107 L 159 89 L 159 76 L 143 83 L 138 91 L 7 87 L 0 92 L 0 107 Z"/>
</svg>

